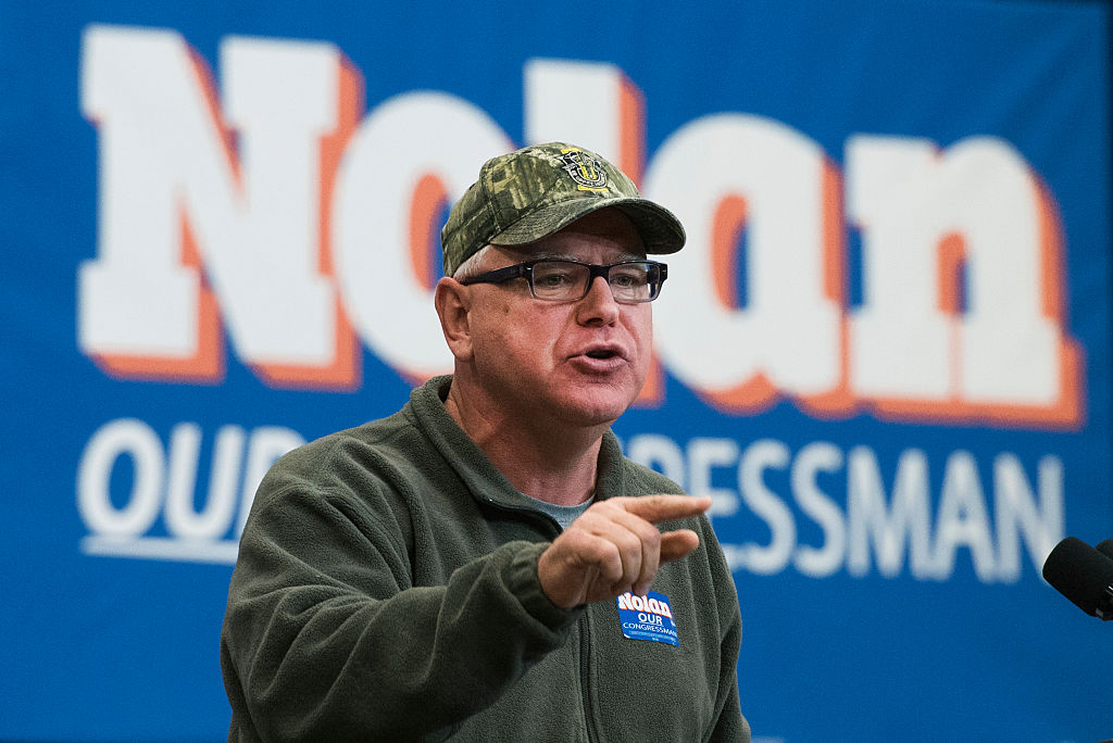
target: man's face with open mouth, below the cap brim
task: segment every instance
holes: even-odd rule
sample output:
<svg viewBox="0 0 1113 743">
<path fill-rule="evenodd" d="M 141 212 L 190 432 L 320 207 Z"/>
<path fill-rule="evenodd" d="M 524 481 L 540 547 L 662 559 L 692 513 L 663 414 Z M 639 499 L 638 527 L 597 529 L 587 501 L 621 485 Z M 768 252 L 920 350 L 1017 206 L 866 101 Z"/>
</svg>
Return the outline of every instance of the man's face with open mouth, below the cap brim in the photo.
<svg viewBox="0 0 1113 743">
<path fill-rule="evenodd" d="M 644 258 L 617 209 L 601 209 L 521 250 L 494 248 L 484 270 L 535 258 L 612 264 Z M 525 279 L 469 287 L 476 378 L 490 403 L 539 423 L 609 424 L 641 390 L 652 351 L 649 303 L 619 304 L 595 277 L 579 301 L 535 299 Z"/>
</svg>

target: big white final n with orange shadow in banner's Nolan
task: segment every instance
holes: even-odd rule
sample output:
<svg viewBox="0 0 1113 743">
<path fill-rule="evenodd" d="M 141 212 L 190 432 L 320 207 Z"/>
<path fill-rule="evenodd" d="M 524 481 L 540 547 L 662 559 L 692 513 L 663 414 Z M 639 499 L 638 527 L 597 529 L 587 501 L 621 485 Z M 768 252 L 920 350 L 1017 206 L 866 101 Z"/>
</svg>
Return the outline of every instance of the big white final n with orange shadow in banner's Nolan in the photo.
<svg viewBox="0 0 1113 743">
<path fill-rule="evenodd" d="M 1077 423 L 1054 205 L 1021 156 L 991 137 L 940 153 L 859 136 L 846 162 L 863 236 L 855 393 L 897 416 Z"/>
</svg>

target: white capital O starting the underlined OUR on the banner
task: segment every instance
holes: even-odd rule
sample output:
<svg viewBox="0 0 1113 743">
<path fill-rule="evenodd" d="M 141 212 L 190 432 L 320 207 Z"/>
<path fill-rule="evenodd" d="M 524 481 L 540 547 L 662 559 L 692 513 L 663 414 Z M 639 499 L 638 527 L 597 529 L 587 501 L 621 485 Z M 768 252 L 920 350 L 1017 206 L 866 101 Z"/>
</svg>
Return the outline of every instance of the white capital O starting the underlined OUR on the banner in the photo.
<svg viewBox="0 0 1113 743">
<path fill-rule="evenodd" d="M 109 481 L 117 459 L 131 459 L 132 479 L 128 504 L 112 505 Z M 142 420 L 121 418 L 105 424 L 92 435 L 78 465 L 77 509 L 93 534 L 138 537 L 158 516 L 162 505 L 162 443 Z"/>
</svg>

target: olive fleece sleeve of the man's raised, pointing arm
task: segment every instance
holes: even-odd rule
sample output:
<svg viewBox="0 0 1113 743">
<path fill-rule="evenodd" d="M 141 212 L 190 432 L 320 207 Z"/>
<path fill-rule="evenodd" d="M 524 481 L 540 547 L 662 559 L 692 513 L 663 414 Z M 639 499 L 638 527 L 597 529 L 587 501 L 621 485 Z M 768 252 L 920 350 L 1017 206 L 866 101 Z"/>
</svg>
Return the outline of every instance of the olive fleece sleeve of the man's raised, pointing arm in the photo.
<svg viewBox="0 0 1113 743">
<path fill-rule="evenodd" d="M 541 590 L 546 544 L 511 542 L 415 587 L 396 522 L 299 489 L 255 506 L 221 632 L 229 739 L 442 740 L 579 615 Z"/>
</svg>

